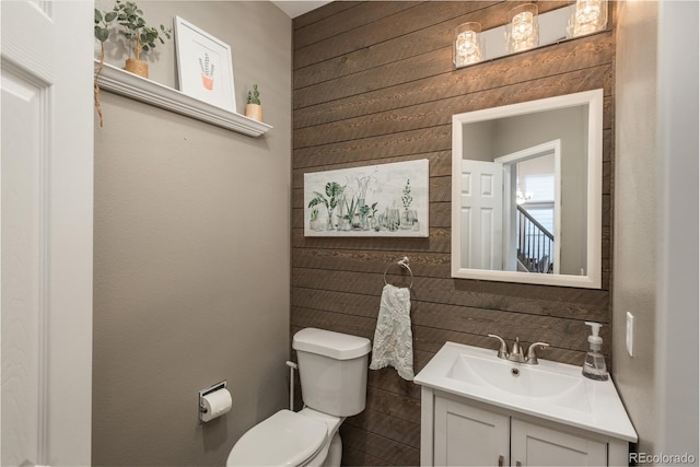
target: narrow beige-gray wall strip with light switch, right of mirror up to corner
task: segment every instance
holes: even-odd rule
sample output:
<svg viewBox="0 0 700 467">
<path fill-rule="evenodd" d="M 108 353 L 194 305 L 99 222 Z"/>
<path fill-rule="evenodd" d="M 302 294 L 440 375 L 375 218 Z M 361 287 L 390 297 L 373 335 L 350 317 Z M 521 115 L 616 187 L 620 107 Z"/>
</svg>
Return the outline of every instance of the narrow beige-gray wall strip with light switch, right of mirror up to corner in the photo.
<svg viewBox="0 0 700 467">
<path fill-rule="evenodd" d="M 616 93 L 615 235 L 612 289 L 615 382 L 640 437 L 654 452 L 654 316 L 657 233 L 655 2 L 619 8 Z M 634 85 L 632 85 L 634 84 Z M 639 233 L 634 235 L 632 233 Z M 640 255 L 639 252 L 645 252 Z M 625 348 L 626 313 L 634 314 L 634 358 Z"/>
</svg>

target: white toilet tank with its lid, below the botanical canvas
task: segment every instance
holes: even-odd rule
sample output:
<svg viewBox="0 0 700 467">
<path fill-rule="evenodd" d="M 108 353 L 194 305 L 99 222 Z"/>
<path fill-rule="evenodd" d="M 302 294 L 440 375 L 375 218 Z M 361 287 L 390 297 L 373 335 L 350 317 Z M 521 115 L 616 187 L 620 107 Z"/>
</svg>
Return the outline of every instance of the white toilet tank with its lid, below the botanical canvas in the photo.
<svg viewBox="0 0 700 467">
<path fill-rule="evenodd" d="M 306 328 L 294 335 L 292 348 L 307 407 L 336 417 L 364 410 L 370 339 Z"/>
</svg>

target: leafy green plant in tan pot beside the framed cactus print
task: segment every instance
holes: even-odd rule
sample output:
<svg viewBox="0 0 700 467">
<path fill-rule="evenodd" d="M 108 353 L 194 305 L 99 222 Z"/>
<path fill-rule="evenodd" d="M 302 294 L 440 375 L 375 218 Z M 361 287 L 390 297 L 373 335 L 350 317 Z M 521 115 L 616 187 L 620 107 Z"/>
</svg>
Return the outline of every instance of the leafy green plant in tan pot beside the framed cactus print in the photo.
<svg viewBox="0 0 700 467">
<path fill-rule="evenodd" d="M 129 58 L 125 69 L 143 78 L 149 77 L 149 65 L 141 60 L 141 52 L 148 52 L 155 48 L 155 40 L 165 44 L 163 36 L 171 38 L 173 28 L 166 28 L 162 24 L 159 28 L 148 26 L 143 19 L 143 11 L 136 2 L 117 0 L 114 11 L 117 23 L 124 27 L 121 33 L 129 43 Z"/>
</svg>

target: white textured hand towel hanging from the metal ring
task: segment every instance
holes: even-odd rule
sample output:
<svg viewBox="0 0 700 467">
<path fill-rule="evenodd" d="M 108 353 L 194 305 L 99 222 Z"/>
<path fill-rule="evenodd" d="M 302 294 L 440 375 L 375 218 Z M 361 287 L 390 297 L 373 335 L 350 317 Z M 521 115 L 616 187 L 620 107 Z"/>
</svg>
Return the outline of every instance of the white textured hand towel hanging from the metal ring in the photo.
<svg viewBox="0 0 700 467">
<path fill-rule="evenodd" d="M 406 288 L 384 285 L 372 347 L 371 370 L 394 366 L 398 375 L 413 381 L 411 295 Z"/>
</svg>

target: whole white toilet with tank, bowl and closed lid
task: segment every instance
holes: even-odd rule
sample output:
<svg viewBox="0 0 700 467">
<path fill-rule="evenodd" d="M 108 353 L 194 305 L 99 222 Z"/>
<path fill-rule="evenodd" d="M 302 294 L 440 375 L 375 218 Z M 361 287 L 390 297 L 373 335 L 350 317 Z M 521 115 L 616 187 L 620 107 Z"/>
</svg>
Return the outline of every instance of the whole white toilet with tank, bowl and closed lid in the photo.
<svg viewBox="0 0 700 467">
<path fill-rule="evenodd" d="M 304 408 L 280 410 L 248 430 L 226 466 L 339 466 L 338 429 L 364 410 L 370 340 L 306 328 L 294 335 Z"/>
</svg>

